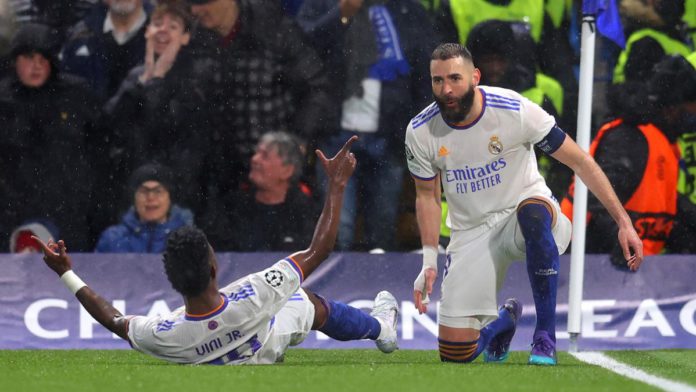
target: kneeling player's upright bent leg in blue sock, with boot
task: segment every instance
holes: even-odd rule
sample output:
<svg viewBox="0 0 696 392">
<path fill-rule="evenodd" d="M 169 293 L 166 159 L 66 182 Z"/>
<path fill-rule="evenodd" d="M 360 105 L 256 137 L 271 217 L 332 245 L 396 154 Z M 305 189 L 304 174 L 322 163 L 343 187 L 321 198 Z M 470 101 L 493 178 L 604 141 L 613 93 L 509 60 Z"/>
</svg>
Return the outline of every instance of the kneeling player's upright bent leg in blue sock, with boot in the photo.
<svg viewBox="0 0 696 392">
<path fill-rule="evenodd" d="M 524 237 L 527 274 L 534 296 L 537 321 L 530 364 L 556 364 L 556 290 L 559 249 L 552 228 L 557 209 L 546 199 L 529 198 L 517 208 L 517 221 Z"/>
</svg>

